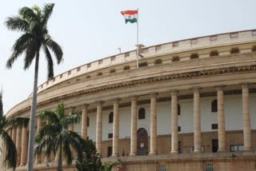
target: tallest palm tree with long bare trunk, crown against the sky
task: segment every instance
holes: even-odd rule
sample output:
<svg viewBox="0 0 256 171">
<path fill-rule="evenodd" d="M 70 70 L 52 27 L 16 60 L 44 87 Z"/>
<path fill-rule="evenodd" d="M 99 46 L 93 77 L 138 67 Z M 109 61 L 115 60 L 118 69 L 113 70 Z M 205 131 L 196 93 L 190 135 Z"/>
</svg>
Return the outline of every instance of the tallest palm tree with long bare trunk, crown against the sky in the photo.
<svg viewBox="0 0 256 171">
<path fill-rule="evenodd" d="M 32 97 L 32 105 L 30 112 L 30 137 L 28 149 L 28 169 L 33 170 L 34 161 L 34 133 L 35 133 L 35 114 L 37 104 L 37 87 L 38 87 L 38 62 L 39 52 L 43 50 L 46 54 L 48 80 L 54 77 L 54 62 L 50 54 L 50 50 L 54 52 L 57 63 L 62 62 L 62 48 L 58 46 L 50 38 L 47 30 L 47 22 L 54 9 L 54 4 L 46 4 L 42 10 L 38 6 L 32 8 L 23 7 L 18 11 L 18 16 L 6 19 L 6 27 L 9 30 L 22 32 L 22 36 L 16 40 L 12 48 L 12 54 L 6 63 L 6 67 L 10 69 L 15 60 L 25 54 L 24 70 L 27 70 L 33 60 L 35 60 L 34 68 L 34 89 Z"/>
</svg>

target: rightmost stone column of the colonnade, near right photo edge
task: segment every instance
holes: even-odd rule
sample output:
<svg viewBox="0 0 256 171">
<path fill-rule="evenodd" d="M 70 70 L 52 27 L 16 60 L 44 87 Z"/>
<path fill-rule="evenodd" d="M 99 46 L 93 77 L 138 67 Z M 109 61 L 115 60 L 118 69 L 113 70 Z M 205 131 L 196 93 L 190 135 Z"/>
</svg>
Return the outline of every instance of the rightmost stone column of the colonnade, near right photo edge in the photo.
<svg viewBox="0 0 256 171">
<path fill-rule="evenodd" d="M 249 84 L 242 85 L 243 150 L 251 151 Z"/>
</svg>

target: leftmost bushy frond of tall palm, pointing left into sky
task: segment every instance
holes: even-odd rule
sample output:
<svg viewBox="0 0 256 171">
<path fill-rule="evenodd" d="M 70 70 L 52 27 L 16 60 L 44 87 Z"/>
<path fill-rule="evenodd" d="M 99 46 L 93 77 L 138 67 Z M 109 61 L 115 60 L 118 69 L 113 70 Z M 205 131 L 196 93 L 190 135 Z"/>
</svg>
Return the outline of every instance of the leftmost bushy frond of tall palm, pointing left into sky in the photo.
<svg viewBox="0 0 256 171">
<path fill-rule="evenodd" d="M 26 32 L 30 28 L 29 23 L 20 17 L 6 18 L 6 22 L 4 22 L 4 24 L 7 27 L 7 29 L 15 31 Z"/>
</svg>

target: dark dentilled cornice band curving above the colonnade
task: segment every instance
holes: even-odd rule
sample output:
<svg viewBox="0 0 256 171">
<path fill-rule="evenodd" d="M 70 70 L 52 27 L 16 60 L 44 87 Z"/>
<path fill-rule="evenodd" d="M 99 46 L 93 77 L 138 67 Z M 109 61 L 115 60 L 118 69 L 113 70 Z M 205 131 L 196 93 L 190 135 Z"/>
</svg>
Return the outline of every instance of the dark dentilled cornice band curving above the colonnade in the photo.
<svg viewBox="0 0 256 171">
<path fill-rule="evenodd" d="M 180 74 L 167 74 L 162 76 L 160 75 L 155 77 L 142 78 L 142 79 L 133 80 L 129 82 L 120 82 L 112 85 L 102 85 L 92 89 L 84 89 L 74 93 L 67 93 L 59 97 L 50 98 L 46 101 L 40 101 L 38 102 L 37 107 L 41 108 L 46 105 L 49 105 L 50 103 L 64 101 L 64 100 L 68 100 L 74 97 L 80 97 L 90 93 L 100 93 L 105 90 L 126 88 L 134 85 L 142 85 L 142 84 L 148 84 L 148 83 L 154 83 L 154 82 L 166 82 L 168 80 L 178 80 L 180 78 L 198 78 L 198 77 L 205 77 L 205 76 L 214 76 L 218 74 L 234 74 L 234 73 L 242 73 L 242 72 L 248 72 L 248 71 L 254 71 L 254 70 L 256 70 L 256 65 L 230 66 L 230 67 L 223 67 L 223 68 L 211 69 L 211 70 L 199 70 L 199 71 L 184 72 Z M 24 113 L 28 110 L 30 110 L 30 106 L 19 110 L 18 113 L 12 114 L 12 116 L 16 116 L 19 113 Z"/>
</svg>

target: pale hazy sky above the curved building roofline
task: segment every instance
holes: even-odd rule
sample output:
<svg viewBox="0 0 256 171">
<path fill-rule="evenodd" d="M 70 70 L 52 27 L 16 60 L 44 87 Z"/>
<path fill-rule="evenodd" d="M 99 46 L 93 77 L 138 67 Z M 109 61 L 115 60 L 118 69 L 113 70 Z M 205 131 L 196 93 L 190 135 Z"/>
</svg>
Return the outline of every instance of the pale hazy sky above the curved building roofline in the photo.
<svg viewBox="0 0 256 171">
<path fill-rule="evenodd" d="M 136 24 L 125 24 L 121 10 L 139 10 L 139 43 L 153 46 L 185 38 L 256 29 L 255 0 L 8 0 L 0 6 L 0 85 L 4 113 L 25 100 L 33 89 L 34 63 L 23 70 L 24 56 L 6 69 L 11 47 L 22 33 L 6 29 L 7 17 L 23 6 L 54 2 L 48 22 L 51 37 L 62 46 L 64 61 L 54 75 L 76 66 L 134 50 Z M 46 60 L 40 56 L 38 85 L 46 82 Z"/>
</svg>

